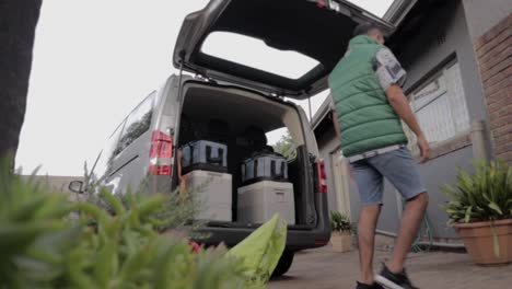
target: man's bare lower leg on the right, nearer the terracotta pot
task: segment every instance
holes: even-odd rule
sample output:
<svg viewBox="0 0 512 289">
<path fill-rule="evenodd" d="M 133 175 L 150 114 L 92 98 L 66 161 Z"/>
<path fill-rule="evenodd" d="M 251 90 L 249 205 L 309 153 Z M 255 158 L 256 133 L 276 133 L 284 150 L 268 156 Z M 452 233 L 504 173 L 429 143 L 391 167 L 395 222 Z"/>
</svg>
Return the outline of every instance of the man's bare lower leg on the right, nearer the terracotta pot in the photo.
<svg viewBox="0 0 512 289">
<path fill-rule="evenodd" d="M 406 209 L 402 215 L 400 231 L 395 243 L 395 250 L 389 263 L 386 265 L 392 273 L 403 271 L 404 263 L 418 234 L 428 204 L 429 196 L 427 193 L 422 193 L 407 201 Z"/>
</svg>

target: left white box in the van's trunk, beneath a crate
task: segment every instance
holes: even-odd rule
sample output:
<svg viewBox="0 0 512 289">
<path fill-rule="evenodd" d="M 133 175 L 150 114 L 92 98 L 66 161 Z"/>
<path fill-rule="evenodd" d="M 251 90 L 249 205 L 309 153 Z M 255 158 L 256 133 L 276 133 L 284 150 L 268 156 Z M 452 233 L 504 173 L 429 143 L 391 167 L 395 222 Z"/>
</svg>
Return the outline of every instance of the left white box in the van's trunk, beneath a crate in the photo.
<svg viewBox="0 0 512 289">
<path fill-rule="evenodd" d="M 191 171 L 186 175 L 187 189 L 196 194 L 200 213 L 198 220 L 232 221 L 232 176 L 231 174 Z"/>
</svg>

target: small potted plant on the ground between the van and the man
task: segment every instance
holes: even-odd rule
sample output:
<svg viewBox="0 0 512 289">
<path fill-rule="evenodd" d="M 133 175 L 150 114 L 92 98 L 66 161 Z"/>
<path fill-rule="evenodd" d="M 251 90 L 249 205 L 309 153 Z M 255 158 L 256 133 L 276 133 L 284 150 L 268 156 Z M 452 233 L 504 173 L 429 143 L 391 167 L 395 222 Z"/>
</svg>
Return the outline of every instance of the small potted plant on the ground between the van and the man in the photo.
<svg viewBox="0 0 512 289">
<path fill-rule="evenodd" d="M 333 250 L 336 252 L 350 251 L 352 247 L 350 239 L 352 224 L 350 223 L 350 218 L 339 211 L 330 211 L 330 229 L 333 230 L 330 236 Z"/>
</svg>

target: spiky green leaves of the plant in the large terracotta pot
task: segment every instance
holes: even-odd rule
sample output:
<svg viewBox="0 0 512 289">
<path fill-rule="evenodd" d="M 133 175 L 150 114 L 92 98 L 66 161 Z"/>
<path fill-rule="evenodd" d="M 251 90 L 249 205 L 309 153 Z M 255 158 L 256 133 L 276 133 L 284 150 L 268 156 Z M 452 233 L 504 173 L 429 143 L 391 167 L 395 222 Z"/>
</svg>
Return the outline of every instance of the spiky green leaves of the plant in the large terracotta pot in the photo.
<svg viewBox="0 0 512 289">
<path fill-rule="evenodd" d="M 442 206 L 449 223 L 512 218 L 512 167 L 500 161 L 474 165 L 474 174 L 458 169 L 456 187 L 441 188 L 451 198 Z"/>
</svg>

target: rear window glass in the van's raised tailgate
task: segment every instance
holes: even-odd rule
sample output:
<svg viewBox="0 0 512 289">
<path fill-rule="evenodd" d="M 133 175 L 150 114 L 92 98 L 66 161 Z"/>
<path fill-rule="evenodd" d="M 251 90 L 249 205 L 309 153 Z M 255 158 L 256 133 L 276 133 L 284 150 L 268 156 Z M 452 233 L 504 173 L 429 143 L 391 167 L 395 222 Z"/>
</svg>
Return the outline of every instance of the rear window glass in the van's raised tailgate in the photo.
<svg viewBox="0 0 512 289">
<path fill-rule="evenodd" d="M 279 50 L 257 38 L 228 32 L 211 33 L 201 51 L 289 79 L 299 79 L 319 63 L 300 53 Z"/>
</svg>

